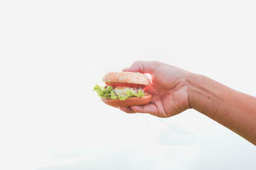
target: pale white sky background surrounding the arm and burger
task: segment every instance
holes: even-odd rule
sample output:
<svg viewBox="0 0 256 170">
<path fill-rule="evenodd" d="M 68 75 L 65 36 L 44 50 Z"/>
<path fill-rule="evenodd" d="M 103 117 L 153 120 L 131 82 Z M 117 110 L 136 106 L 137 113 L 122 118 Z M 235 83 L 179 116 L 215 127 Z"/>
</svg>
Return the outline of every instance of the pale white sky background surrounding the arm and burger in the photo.
<svg viewBox="0 0 256 170">
<path fill-rule="evenodd" d="M 0 1 L 0 169 L 256 169 L 255 146 L 201 113 L 129 115 L 92 90 L 159 60 L 256 96 L 255 8 Z"/>
</svg>

